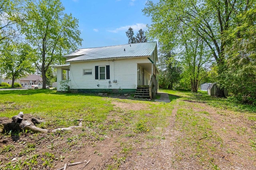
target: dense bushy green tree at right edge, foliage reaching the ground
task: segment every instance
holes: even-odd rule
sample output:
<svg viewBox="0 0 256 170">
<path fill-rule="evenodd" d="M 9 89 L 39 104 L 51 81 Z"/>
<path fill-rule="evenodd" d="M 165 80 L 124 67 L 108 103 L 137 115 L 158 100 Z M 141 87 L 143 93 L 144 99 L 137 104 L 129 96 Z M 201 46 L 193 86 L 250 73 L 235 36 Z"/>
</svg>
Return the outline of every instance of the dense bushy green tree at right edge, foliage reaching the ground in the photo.
<svg viewBox="0 0 256 170">
<path fill-rule="evenodd" d="M 235 18 L 226 32 L 227 59 L 222 83 L 242 103 L 256 105 L 256 8 Z"/>
</svg>

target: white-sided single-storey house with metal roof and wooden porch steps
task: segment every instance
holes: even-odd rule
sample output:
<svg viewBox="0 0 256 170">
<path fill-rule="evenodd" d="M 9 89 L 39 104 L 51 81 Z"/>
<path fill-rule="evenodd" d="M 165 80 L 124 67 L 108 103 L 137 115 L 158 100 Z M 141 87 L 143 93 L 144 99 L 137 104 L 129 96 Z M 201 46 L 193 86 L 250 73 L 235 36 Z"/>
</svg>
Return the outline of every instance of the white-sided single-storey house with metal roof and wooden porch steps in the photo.
<svg viewBox="0 0 256 170">
<path fill-rule="evenodd" d="M 58 91 L 63 91 L 63 82 L 68 80 L 74 93 L 137 91 L 135 97 L 152 98 L 157 92 L 156 42 L 84 48 L 63 57 L 66 64 L 55 66 Z"/>
</svg>

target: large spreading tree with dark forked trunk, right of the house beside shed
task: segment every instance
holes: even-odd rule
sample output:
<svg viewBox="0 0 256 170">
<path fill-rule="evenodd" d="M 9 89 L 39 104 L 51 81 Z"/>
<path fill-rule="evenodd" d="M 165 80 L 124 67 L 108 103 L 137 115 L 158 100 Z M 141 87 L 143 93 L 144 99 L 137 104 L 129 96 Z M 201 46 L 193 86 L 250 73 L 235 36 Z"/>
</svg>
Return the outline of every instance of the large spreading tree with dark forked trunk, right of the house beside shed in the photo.
<svg viewBox="0 0 256 170">
<path fill-rule="evenodd" d="M 227 42 L 224 34 L 234 24 L 234 16 L 254 8 L 254 3 L 250 0 L 160 0 L 157 4 L 147 2 L 143 12 L 151 16 L 152 25 L 148 28 L 150 37 L 165 44 L 168 50 L 177 47 L 183 38 L 178 34 L 179 28 L 185 32 L 191 29 L 210 49 L 220 75 L 225 68 Z M 224 90 L 218 90 L 217 95 L 224 96 Z"/>
</svg>

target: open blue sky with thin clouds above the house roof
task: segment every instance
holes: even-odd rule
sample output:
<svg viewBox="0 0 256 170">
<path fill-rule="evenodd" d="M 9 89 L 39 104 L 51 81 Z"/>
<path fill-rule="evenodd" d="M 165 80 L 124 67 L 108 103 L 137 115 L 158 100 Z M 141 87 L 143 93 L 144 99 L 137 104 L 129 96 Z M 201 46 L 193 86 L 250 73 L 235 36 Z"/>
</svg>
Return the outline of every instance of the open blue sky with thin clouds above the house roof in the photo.
<svg viewBox="0 0 256 170">
<path fill-rule="evenodd" d="M 146 31 L 151 18 L 143 15 L 147 0 L 61 0 L 65 13 L 79 20 L 82 46 L 103 47 L 128 43 L 129 27 Z M 152 0 L 154 3 L 159 0 Z"/>
</svg>

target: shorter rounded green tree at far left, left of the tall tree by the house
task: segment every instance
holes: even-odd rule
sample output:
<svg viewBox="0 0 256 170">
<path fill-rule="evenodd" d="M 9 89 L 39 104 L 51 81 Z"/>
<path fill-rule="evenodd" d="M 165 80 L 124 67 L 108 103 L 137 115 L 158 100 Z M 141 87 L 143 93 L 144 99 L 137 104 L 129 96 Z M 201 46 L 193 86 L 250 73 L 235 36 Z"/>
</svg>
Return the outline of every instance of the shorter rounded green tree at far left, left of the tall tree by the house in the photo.
<svg viewBox="0 0 256 170">
<path fill-rule="evenodd" d="M 0 73 L 12 79 L 12 87 L 15 79 L 34 73 L 34 50 L 28 44 L 6 41 L 2 44 L 0 53 Z"/>
</svg>

